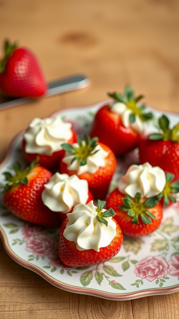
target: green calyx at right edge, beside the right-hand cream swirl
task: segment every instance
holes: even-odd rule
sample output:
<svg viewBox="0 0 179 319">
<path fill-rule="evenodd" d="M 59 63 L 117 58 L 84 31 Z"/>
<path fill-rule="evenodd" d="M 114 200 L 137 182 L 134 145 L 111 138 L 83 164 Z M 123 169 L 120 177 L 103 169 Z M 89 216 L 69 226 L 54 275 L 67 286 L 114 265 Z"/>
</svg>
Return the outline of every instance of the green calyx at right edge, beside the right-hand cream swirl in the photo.
<svg viewBox="0 0 179 319">
<path fill-rule="evenodd" d="M 162 192 L 157 196 L 159 200 L 163 198 L 164 207 L 168 206 L 169 200 L 171 200 L 173 203 L 176 203 L 176 198 L 173 196 L 173 194 L 179 193 L 179 181 L 171 183 L 174 177 L 175 175 L 172 173 L 166 174 L 165 187 L 162 190 Z"/>
</svg>

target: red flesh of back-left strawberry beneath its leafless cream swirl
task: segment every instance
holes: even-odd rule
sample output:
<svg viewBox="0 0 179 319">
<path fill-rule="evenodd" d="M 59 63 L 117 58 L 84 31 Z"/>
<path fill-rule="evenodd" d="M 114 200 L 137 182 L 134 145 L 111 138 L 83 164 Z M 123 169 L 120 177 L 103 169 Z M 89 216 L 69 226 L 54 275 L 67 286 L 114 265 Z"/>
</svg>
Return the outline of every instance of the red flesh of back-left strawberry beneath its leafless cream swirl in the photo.
<svg viewBox="0 0 179 319">
<path fill-rule="evenodd" d="M 69 144 L 73 144 L 77 141 L 77 136 L 76 133 L 72 131 L 72 137 L 68 140 Z M 50 155 L 41 155 L 41 154 L 37 154 L 37 153 L 27 153 L 25 151 L 25 139 L 23 139 L 22 141 L 22 150 L 24 153 L 25 158 L 28 160 L 28 162 L 32 162 L 33 160 L 35 160 L 37 158 L 37 156 L 39 157 L 39 164 L 43 167 L 46 167 L 47 169 L 51 169 L 53 171 L 56 171 L 56 168 L 59 167 L 59 163 L 61 161 L 61 159 L 64 157 L 65 155 L 65 151 L 64 150 L 60 150 L 58 152 L 54 152 L 52 154 L 52 156 Z"/>
</svg>

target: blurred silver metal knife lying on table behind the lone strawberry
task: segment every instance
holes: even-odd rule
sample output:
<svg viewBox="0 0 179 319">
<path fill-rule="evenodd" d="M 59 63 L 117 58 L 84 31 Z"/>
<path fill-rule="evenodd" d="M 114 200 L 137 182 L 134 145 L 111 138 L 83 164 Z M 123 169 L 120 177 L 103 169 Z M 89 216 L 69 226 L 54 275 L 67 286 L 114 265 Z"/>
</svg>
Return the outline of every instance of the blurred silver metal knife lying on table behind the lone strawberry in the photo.
<svg viewBox="0 0 179 319">
<path fill-rule="evenodd" d="M 44 97 L 69 92 L 77 89 L 82 89 L 89 85 L 90 80 L 84 75 L 77 74 L 66 78 L 58 79 L 48 83 L 48 90 Z M 0 97 L 0 109 L 11 108 L 19 104 L 33 102 L 31 98 L 6 98 Z"/>
</svg>

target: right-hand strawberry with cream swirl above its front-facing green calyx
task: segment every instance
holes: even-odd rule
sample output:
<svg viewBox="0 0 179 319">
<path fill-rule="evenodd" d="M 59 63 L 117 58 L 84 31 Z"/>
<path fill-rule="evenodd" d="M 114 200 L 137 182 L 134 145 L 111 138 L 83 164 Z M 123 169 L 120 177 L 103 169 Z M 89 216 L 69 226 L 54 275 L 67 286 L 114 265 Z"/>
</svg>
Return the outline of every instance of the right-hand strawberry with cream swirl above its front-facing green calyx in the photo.
<svg viewBox="0 0 179 319">
<path fill-rule="evenodd" d="M 131 165 L 118 186 L 109 195 L 106 207 L 112 207 L 123 234 L 138 237 L 156 230 L 162 219 L 157 196 L 163 192 L 166 176 L 160 167 L 149 163 Z M 161 196 L 160 196 L 161 198 Z"/>
</svg>

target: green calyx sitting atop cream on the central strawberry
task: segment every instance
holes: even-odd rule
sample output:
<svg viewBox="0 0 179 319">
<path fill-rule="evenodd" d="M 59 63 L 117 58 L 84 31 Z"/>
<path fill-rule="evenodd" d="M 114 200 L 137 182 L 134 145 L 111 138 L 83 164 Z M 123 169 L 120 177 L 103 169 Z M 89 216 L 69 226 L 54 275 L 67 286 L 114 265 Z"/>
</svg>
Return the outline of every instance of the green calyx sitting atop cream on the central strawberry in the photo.
<svg viewBox="0 0 179 319">
<path fill-rule="evenodd" d="M 88 156 L 94 155 L 99 150 L 95 151 L 95 148 L 97 147 L 98 137 L 93 137 L 90 139 L 88 134 L 84 135 L 84 141 L 82 142 L 81 138 L 78 138 L 77 143 L 78 146 L 75 147 L 68 143 L 61 144 L 61 147 L 63 150 L 72 153 L 74 155 L 74 158 L 71 161 L 71 164 L 75 160 L 79 160 L 80 166 L 84 166 L 87 164 L 87 158 Z"/>
</svg>

